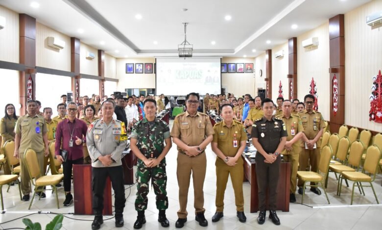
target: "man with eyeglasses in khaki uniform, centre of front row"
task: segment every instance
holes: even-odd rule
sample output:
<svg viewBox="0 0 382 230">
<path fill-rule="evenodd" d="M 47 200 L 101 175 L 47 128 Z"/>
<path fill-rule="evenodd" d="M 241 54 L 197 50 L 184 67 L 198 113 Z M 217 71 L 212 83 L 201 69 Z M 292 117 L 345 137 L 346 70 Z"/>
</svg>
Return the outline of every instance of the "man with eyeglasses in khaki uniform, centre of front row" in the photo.
<svg viewBox="0 0 382 230">
<path fill-rule="evenodd" d="M 176 175 L 179 185 L 178 220 L 176 228 L 183 228 L 187 221 L 187 197 L 192 172 L 194 190 L 195 220 L 200 226 L 206 227 L 208 222 L 204 217 L 203 184 L 206 176 L 207 159 L 205 149 L 212 141 L 214 129 L 208 115 L 197 112 L 199 94 L 191 92 L 186 96 L 187 111 L 174 119 L 171 130 L 173 142 L 177 145 L 178 158 Z"/>
</svg>

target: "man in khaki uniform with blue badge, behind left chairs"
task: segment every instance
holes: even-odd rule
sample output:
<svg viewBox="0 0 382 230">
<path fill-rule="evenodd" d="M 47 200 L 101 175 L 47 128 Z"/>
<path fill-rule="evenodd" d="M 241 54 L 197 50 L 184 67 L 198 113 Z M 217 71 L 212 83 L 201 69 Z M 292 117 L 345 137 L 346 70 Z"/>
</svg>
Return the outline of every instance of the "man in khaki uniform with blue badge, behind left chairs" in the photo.
<svg viewBox="0 0 382 230">
<path fill-rule="evenodd" d="M 44 172 L 44 155 L 48 156 L 48 130 L 44 117 L 37 115 L 37 103 L 35 100 L 26 102 L 26 111 L 24 116 L 20 116 L 16 122 L 16 137 L 15 137 L 15 152 L 14 157 L 20 159 L 21 166 L 21 190 L 24 194 L 22 200 L 29 201 L 30 178 L 28 169 L 24 162 L 24 151 L 28 148 L 36 152 L 37 161 L 40 166 L 40 175 L 45 175 Z M 37 193 L 41 198 L 45 197 L 44 192 Z"/>
</svg>

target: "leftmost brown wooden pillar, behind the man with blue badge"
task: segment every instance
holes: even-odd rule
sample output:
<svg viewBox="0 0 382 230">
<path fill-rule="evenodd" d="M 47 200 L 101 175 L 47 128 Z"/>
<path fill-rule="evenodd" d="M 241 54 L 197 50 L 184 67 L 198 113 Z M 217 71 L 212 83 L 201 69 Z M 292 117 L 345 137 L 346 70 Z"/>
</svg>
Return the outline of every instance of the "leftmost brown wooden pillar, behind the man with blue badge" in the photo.
<svg viewBox="0 0 382 230">
<path fill-rule="evenodd" d="M 27 14 L 19 14 L 20 32 L 20 64 L 26 70 L 19 73 L 20 115 L 25 115 L 27 101 L 27 81 L 31 76 L 33 81 L 32 99 L 36 99 L 36 19 Z M 17 107 L 17 106 L 16 106 Z"/>
</svg>

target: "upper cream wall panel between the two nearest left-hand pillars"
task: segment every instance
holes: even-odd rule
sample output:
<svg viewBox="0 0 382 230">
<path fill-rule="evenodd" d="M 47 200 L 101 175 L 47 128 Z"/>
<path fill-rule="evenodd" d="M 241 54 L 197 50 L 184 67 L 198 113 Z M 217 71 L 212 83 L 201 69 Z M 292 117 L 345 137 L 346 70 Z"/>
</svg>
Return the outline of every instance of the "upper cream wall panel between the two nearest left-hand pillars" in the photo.
<svg viewBox="0 0 382 230">
<path fill-rule="evenodd" d="M 58 50 L 48 46 L 48 37 L 65 42 L 65 48 Z M 36 23 L 36 66 L 71 71 L 71 38 L 46 25 Z"/>
</svg>

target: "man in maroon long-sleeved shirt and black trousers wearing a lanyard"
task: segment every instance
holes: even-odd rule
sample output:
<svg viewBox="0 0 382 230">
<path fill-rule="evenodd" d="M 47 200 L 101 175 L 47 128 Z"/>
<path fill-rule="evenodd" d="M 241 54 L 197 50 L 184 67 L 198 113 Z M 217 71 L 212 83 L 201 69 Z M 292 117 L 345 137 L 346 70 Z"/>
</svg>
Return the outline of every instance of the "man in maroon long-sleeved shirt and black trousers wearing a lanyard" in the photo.
<svg viewBox="0 0 382 230">
<path fill-rule="evenodd" d="M 57 160 L 61 161 L 64 169 L 64 206 L 70 206 L 73 203 L 71 194 L 71 178 L 73 164 L 83 164 L 83 147 L 86 142 L 86 123 L 75 117 L 77 114 L 77 105 L 74 102 L 68 104 L 68 118 L 57 125 L 55 155 Z M 62 148 L 61 148 L 62 143 Z M 60 155 L 60 149 L 66 150 L 66 159 Z"/>
</svg>

